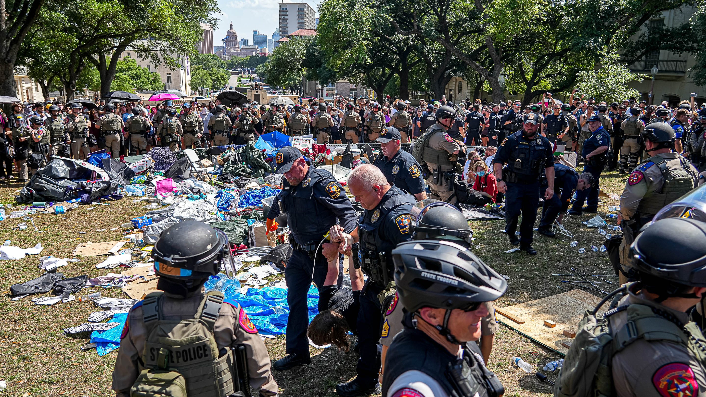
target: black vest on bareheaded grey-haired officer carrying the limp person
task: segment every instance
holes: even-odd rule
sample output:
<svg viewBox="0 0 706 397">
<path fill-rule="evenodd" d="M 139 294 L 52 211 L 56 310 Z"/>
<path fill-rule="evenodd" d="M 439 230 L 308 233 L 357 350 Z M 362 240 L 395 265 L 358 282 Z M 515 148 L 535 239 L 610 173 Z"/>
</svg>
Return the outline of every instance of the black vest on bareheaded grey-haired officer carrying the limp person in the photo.
<svg viewBox="0 0 706 397">
<path fill-rule="evenodd" d="M 395 223 L 395 217 L 388 217 L 394 209 L 402 207 L 408 214 L 414 204 L 417 204 L 412 195 L 406 194 L 397 187 L 391 188 L 385 195 L 389 196 L 385 202 L 378 204 L 373 210 L 366 209 L 358 219 L 360 228 L 358 262 L 361 271 L 383 287 L 393 281 L 395 265 L 391 254 L 399 242 L 390 241 L 384 236 L 383 228 L 379 226 L 388 222 Z M 412 236 L 411 233 L 410 236 Z"/>
</svg>

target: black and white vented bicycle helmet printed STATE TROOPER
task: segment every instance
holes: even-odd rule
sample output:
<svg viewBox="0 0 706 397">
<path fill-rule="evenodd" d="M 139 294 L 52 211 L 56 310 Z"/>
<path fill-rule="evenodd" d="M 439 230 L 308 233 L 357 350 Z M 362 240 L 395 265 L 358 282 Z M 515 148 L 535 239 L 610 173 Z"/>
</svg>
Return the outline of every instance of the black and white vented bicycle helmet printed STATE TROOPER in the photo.
<svg viewBox="0 0 706 397">
<path fill-rule="evenodd" d="M 508 289 L 500 274 L 449 241 L 405 241 L 392 255 L 397 294 L 408 312 L 422 307 L 468 310 L 500 298 Z"/>
</svg>

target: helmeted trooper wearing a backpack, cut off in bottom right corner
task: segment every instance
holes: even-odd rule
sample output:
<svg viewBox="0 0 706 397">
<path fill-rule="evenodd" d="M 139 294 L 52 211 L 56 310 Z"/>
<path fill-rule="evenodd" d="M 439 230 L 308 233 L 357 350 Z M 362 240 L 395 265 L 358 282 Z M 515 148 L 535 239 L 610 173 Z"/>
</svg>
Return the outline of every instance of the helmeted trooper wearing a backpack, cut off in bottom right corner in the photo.
<svg viewBox="0 0 706 397">
<path fill-rule="evenodd" d="M 631 254 L 638 282 L 579 323 L 554 396 L 706 395 L 706 338 L 689 316 L 706 294 L 706 224 L 655 221 Z"/>
</svg>

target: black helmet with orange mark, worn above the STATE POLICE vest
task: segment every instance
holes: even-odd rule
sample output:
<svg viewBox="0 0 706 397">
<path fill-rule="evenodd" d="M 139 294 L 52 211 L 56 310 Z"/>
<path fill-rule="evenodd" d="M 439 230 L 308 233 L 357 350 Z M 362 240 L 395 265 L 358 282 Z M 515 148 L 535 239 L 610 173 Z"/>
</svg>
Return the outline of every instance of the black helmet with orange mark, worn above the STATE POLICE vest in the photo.
<svg viewBox="0 0 706 397">
<path fill-rule="evenodd" d="M 182 221 L 162 231 L 152 248 L 155 272 L 167 279 L 196 280 L 215 276 L 221 264 L 229 275 L 233 255 L 222 231 L 198 221 Z"/>
</svg>

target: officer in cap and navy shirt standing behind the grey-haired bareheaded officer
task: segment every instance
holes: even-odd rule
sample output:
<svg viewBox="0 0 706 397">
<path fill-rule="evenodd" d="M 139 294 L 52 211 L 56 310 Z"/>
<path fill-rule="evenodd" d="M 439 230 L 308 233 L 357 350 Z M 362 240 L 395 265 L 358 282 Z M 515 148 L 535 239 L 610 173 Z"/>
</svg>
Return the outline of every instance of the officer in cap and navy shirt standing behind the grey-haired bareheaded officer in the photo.
<svg viewBox="0 0 706 397">
<path fill-rule="evenodd" d="M 383 128 L 377 140 L 383 155 L 378 156 L 373 165 L 382 171 L 388 182 L 395 183 L 397 188 L 414 195 L 417 201 L 424 200 L 426 188 L 421 176 L 421 166 L 412 154 L 400 149 L 401 136 L 395 127 Z"/>
</svg>

